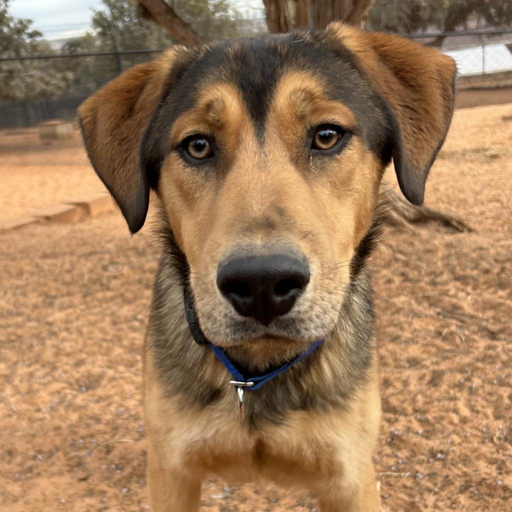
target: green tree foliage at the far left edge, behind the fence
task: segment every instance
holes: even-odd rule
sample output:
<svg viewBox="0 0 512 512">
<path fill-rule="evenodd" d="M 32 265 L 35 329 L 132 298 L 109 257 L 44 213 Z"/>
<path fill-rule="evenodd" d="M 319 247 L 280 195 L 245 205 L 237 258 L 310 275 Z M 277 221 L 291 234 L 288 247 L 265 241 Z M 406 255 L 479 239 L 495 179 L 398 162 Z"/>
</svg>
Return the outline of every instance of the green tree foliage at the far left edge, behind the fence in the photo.
<svg viewBox="0 0 512 512">
<path fill-rule="evenodd" d="M 31 29 L 30 19 L 17 19 L 8 12 L 9 0 L 0 0 L 0 56 L 23 57 L 51 54 L 41 33 Z M 57 70 L 51 60 L 0 62 L 0 101 L 53 96 L 69 88 L 72 74 Z"/>
</svg>

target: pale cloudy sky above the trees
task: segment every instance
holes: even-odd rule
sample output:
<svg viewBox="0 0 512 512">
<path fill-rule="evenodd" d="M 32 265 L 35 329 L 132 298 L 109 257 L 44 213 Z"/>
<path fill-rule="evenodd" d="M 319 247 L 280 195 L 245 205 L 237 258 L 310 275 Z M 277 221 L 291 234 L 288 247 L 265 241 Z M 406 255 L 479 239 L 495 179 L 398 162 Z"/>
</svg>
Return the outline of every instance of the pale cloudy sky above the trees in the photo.
<svg viewBox="0 0 512 512">
<path fill-rule="evenodd" d="M 239 7 L 261 7 L 261 0 L 232 0 Z M 98 9 L 100 0 L 11 0 L 9 12 L 17 18 L 32 19 L 33 27 L 88 24 L 91 9 Z"/>
</svg>

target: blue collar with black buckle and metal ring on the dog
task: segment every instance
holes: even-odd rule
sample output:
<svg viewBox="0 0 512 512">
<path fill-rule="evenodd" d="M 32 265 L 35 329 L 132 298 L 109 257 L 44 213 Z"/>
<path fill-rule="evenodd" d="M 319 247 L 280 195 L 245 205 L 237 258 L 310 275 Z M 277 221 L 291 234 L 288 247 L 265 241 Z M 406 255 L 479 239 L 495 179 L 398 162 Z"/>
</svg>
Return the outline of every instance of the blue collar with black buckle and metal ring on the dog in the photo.
<svg viewBox="0 0 512 512">
<path fill-rule="evenodd" d="M 210 343 L 206 339 L 197 321 L 196 311 L 194 309 L 194 304 L 191 300 L 189 293 L 183 293 L 183 301 L 185 303 L 185 317 L 187 320 L 188 328 L 190 329 L 190 334 L 194 338 L 195 342 L 198 343 L 199 345 L 207 345 L 211 349 L 211 351 L 216 355 L 217 359 L 219 359 L 219 361 L 224 365 L 226 370 L 232 375 L 233 380 L 230 380 L 229 383 L 235 386 L 237 389 L 240 406 L 242 406 L 244 388 L 247 388 L 247 390 L 252 391 L 260 389 L 265 384 L 265 382 L 268 382 L 274 377 L 277 377 L 281 373 L 288 370 L 288 368 L 291 368 L 293 365 L 296 365 L 297 362 L 300 362 L 306 357 L 308 357 L 308 355 L 312 354 L 324 342 L 323 339 L 316 340 L 316 342 L 311 344 L 305 352 L 298 355 L 291 361 L 286 362 L 282 367 L 276 370 L 264 373 L 263 375 L 256 375 L 254 377 L 245 378 L 244 375 L 242 375 L 242 373 L 238 370 L 238 368 L 234 366 L 233 362 L 229 359 L 224 350 L 222 350 L 221 347 L 218 347 Z"/>
</svg>

